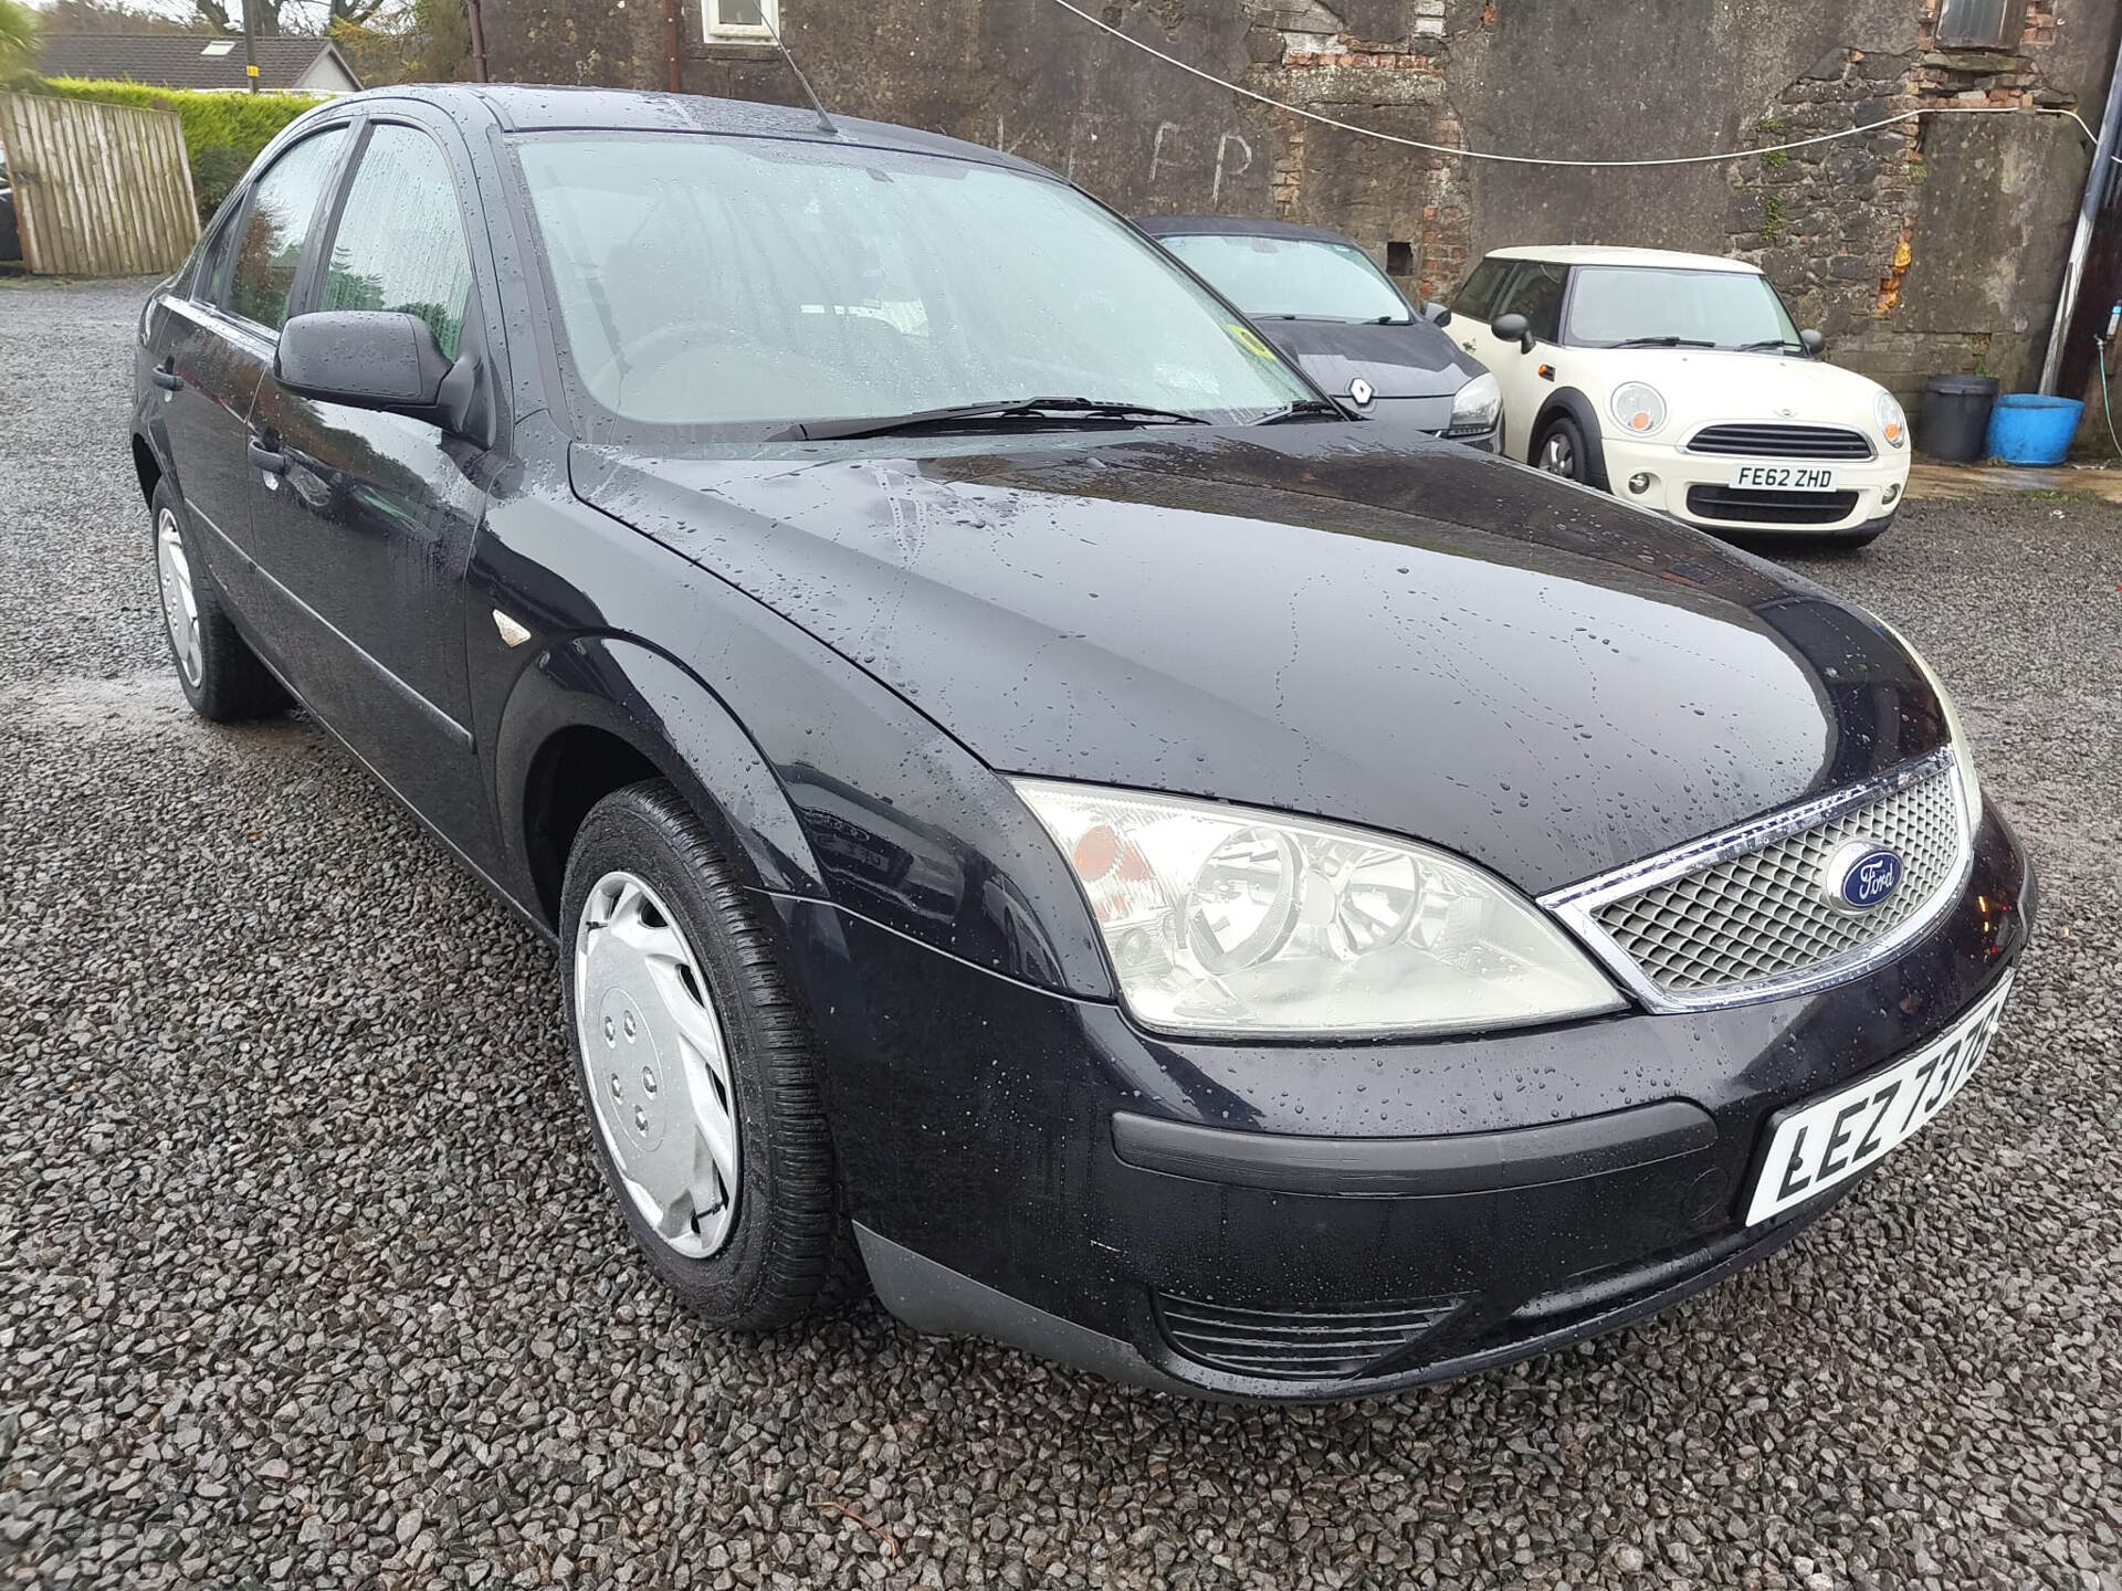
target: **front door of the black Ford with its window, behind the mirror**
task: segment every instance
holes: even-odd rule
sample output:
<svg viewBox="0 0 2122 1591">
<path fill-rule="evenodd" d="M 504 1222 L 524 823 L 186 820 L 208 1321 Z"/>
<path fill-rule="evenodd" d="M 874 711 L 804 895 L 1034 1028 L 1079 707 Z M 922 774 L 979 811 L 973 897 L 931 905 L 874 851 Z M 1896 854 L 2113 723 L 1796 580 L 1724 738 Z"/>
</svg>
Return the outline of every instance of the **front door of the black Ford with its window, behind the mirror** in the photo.
<svg viewBox="0 0 2122 1591">
<path fill-rule="evenodd" d="M 443 354 L 473 352 L 482 314 L 446 144 L 380 117 L 356 138 L 301 308 L 418 314 Z M 490 450 L 431 420 L 297 397 L 272 371 L 250 420 L 272 460 L 255 501 L 259 564 L 301 632 L 295 689 L 448 838 L 482 851 L 463 579 Z"/>
</svg>

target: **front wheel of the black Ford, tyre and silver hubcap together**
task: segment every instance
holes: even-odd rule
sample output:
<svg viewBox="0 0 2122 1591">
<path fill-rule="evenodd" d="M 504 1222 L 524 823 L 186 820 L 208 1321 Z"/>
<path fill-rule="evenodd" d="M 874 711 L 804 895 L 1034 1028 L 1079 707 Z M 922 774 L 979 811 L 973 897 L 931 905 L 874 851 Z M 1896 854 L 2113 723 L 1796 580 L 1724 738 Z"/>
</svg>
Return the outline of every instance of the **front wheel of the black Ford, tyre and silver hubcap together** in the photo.
<svg viewBox="0 0 2122 1591">
<path fill-rule="evenodd" d="M 560 925 L 592 1154 L 656 1279 L 730 1332 L 859 1296 L 817 1042 L 734 870 L 666 781 L 584 819 Z"/>
</svg>

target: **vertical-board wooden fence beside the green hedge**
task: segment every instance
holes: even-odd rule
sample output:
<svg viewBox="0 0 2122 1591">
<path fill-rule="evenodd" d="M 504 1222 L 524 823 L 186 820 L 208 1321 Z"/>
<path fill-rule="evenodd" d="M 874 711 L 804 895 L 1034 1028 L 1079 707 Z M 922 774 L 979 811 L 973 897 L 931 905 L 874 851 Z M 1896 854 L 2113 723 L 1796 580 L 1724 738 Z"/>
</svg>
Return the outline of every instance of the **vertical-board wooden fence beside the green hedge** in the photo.
<svg viewBox="0 0 2122 1591">
<path fill-rule="evenodd" d="M 0 93 L 21 261 L 38 276 L 159 276 L 199 238 L 170 110 Z"/>
</svg>

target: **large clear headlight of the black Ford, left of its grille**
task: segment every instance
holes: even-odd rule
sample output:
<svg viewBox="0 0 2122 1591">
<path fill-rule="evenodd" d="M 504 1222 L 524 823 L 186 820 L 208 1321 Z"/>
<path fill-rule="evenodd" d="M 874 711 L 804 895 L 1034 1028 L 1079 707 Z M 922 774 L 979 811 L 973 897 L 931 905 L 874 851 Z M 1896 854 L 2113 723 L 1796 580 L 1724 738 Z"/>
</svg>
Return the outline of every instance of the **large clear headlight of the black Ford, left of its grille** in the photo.
<svg viewBox="0 0 2122 1591">
<path fill-rule="evenodd" d="M 1443 1033 L 1619 1008 L 1509 885 L 1428 846 L 1243 806 L 1021 779 L 1129 1010 L 1193 1033 Z"/>
</svg>

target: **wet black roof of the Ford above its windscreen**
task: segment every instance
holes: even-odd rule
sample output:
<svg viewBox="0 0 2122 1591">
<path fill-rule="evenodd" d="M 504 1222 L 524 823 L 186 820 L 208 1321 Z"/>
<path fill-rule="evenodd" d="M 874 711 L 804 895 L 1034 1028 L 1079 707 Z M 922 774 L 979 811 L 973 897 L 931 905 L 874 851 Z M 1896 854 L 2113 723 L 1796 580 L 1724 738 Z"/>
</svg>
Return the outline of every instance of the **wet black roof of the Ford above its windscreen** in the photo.
<svg viewBox="0 0 2122 1591">
<path fill-rule="evenodd" d="M 698 132 L 736 138 L 792 138 L 821 144 L 855 144 L 862 148 L 900 148 L 917 155 L 951 155 L 1006 165 L 1019 172 L 1053 176 L 1044 165 L 1004 155 L 987 144 L 961 138 L 898 127 L 889 121 L 832 117 L 834 132 L 819 127 L 808 106 L 755 104 L 751 100 L 711 100 L 702 93 L 645 93 L 639 89 L 596 89 L 556 83 L 420 83 L 410 87 L 369 89 L 327 102 L 333 112 L 348 106 L 386 100 L 418 100 L 460 119 L 482 112 L 507 132 Z"/>
</svg>

